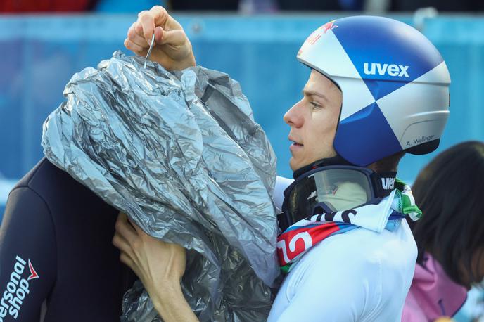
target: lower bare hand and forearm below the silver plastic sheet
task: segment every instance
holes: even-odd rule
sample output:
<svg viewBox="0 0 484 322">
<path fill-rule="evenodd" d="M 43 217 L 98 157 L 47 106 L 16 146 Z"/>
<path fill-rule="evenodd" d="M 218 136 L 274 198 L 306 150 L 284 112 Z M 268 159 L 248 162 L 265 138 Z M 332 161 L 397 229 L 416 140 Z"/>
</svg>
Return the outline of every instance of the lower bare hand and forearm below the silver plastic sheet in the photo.
<svg viewBox="0 0 484 322">
<path fill-rule="evenodd" d="M 183 247 L 149 236 L 121 213 L 113 245 L 121 251 L 121 262 L 139 277 L 164 321 L 198 321 L 181 292 L 186 264 Z"/>
</svg>

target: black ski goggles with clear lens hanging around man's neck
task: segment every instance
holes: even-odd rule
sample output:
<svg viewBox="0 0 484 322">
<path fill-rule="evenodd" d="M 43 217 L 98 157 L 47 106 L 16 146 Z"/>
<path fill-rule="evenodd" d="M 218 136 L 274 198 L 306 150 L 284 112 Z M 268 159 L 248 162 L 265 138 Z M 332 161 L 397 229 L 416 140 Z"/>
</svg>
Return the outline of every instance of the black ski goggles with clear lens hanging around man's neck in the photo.
<svg viewBox="0 0 484 322">
<path fill-rule="evenodd" d="M 326 166 L 306 172 L 284 191 L 279 227 L 284 231 L 314 214 L 378 203 L 393 190 L 395 175 L 395 172 L 376 174 L 371 169 L 353 166 Z"/>
</svg>

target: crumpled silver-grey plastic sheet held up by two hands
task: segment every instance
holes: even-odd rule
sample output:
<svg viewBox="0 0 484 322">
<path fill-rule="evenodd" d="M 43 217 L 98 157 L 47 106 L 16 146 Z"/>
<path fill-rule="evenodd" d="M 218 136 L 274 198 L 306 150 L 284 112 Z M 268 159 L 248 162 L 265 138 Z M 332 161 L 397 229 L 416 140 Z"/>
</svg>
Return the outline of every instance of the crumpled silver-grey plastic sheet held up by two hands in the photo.
<svg viewBox="0 0 484 322">
<path fill-rule="evenodd" d="M 265 321 L 279 275 L 274 151 L 228 75 L 143 64 L 116 52 L 75 74 L 44 123 L 44 154 L 189 250 L 182 289 L 200 321 Z M 160 321 L 140 282 L 122 306 L 122 321 Z"/>
</svg>

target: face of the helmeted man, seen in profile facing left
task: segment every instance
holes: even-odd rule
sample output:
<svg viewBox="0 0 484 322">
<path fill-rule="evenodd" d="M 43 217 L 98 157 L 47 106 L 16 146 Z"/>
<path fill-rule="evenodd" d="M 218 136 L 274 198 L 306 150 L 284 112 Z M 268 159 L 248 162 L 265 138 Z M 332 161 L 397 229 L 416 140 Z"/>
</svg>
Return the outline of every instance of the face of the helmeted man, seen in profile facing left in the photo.
<svg viewBox="0 0 484 322">
<path fill-rule="evenodd" d="M 303 89 L 303 99 L 286 112 L 284 122 L 293 144 L 289 165 L 293 171 L 310 163 L 336 156 L 334 136 L 340 116 L 341 91 L 327 77 L 312 70 Z"/>
</svg>

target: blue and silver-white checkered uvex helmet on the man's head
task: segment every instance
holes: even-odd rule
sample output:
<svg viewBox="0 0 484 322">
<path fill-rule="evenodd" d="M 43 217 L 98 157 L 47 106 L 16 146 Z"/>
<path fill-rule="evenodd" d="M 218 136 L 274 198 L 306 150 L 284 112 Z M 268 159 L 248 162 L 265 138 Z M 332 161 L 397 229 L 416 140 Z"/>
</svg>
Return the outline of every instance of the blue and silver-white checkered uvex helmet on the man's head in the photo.
<svg viewBox="0 0 484 322">
<path fill-rule="evenodd" d="M 449 117 L 450 75 L 435 46 L 403 22 L 356 16 L 315 30 L 298 60 L 343 94 L 333 147 L 366 167 L 402 150 L 430 153 Z"/>
</svg>

